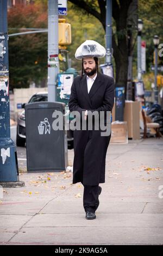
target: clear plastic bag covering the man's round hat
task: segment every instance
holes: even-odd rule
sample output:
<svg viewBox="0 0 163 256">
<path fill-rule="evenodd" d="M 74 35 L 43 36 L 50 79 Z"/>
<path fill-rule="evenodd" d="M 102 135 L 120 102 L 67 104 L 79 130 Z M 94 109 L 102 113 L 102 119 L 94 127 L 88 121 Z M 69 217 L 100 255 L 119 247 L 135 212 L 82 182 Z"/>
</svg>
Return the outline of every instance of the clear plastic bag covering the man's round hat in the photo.
<svg viewBox="0 0 163 256">
<path fill-rule="evenodd" d="M 77 48 L 75 53 L 76 59 L 83 59 L 85 57 L 102 58 L 105 56 L 105 48 L 93 40 L 86 40 Z"/>
</svg>

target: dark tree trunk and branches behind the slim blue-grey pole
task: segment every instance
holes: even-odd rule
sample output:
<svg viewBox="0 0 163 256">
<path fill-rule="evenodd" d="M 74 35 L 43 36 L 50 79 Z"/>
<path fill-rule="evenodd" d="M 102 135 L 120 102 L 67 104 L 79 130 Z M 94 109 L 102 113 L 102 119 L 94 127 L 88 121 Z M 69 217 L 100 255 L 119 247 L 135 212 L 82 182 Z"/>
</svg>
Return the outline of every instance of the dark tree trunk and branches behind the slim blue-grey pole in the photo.
<svg viewBox="0 0 163 256">
<path fill-rule="evenodd" d="M 106 20 L 106 1 L 97 0 L 69 0 L 77 8 L 83 9 L 86 13 L 93 15 L 98 19 L 105 31 Z M 131 8 L 131 5 L 133 7 Z M 114 50 L 113 56 L 116 64 L 116 84 L 124 86 L 127 85 L 127 71 L 128 71 L 128 42 L 127 29 L 128 25 L 131 29 L 136 28 L 136 11 L 137 1 L 135 0 L 114 0 L 112 1 L 112 17 L 114 19 L 114 29 L 112 31 L 112 48 Z"/>
</svg>

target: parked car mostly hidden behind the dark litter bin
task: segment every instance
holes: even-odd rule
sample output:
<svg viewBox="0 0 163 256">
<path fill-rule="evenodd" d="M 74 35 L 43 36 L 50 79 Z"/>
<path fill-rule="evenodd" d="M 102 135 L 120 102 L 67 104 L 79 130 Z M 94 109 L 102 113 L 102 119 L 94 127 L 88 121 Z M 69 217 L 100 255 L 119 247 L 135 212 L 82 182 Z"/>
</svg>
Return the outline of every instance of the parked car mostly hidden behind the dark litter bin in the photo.
<svg viewBox="0 0 163 256">
<path fill-rule="evenodd" d="M 48 93 L 35 93 L 28 103 L 39 102 L 39 101 L 47 101 L 48 100 Z M 26 103 L 22 104 L 22 108 Z M 17 132 L 16 132 L 16 145 L 18 147 L 24 147 L 26 143 L 26 121 L 25 121 L 25 109 L 21 112 L 17 119 Z M 67 142 L 68 142 L 68 149 L 73 148 L 73 131 L 67 131 Z"/>
</svg>

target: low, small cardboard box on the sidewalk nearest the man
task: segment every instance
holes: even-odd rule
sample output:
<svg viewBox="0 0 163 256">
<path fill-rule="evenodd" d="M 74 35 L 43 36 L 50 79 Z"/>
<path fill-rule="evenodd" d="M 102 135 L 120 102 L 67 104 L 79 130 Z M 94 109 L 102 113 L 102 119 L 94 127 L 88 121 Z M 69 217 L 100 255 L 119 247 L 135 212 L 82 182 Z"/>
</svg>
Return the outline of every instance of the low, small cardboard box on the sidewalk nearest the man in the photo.
<svg viewBox="0 0 163 256">
<path fill-rule="evenodd" d="M 115 121 L 111 123 L 110 143 L 128 143 L 127 122 Z"/>
</svg>

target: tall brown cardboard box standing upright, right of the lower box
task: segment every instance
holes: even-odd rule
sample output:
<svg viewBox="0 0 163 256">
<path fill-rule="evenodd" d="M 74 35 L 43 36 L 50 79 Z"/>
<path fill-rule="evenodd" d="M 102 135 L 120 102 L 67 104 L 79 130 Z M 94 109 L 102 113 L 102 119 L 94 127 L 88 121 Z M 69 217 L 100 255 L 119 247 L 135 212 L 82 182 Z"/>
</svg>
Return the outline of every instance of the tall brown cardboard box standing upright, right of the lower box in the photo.
<svg viewBox="0 0 163 256">
<path fill-rule="evenodd" d="M 140 102 L 126 101 L 124 121 L 127 121 L 128 138 L 140 139 Z"/>
</svg>

